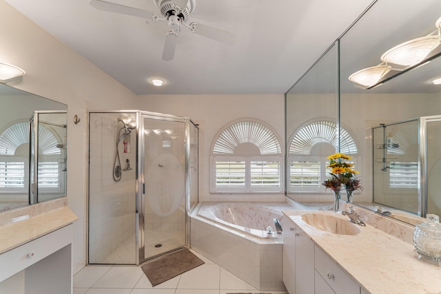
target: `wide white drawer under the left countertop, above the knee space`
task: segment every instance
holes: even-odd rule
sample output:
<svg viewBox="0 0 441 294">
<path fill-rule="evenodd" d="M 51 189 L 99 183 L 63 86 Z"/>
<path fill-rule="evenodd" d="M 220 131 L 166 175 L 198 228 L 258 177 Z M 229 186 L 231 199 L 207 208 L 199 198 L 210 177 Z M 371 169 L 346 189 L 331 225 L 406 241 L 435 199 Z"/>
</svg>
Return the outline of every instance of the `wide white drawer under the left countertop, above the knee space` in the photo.
<svg viewBox="0 0 441 294">
<path fill-rule="evenodd" d="M 73 225 L 0 254 L 0 282 L 72 243 Z"/>
</svg>

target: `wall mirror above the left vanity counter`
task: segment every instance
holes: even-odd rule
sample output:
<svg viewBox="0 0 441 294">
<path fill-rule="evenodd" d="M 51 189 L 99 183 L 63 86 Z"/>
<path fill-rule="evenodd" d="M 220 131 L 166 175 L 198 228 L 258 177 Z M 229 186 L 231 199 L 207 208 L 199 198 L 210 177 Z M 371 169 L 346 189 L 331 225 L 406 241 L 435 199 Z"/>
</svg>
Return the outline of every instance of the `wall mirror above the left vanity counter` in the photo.
<svg viewBox="0 0 441 294">
<path fill-rule="evenodd" d="M 67 105 L 1 83 L 0 101 L 0 212 L 66 196 Z"/>
</svg>

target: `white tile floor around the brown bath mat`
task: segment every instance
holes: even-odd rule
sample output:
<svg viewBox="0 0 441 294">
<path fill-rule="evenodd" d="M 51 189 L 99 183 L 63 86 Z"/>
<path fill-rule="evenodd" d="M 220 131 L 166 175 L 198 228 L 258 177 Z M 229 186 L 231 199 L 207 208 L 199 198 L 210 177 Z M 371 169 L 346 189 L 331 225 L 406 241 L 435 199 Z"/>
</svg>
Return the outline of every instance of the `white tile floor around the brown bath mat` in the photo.
<svg viewBox="0 0 441 294">
<path fill-rule="evenodd" d="M 193 251 L 205 264 L 152 287 L 140 266 L 85 266 L 74 275 L 73 294 L 227 294 L 263 292 Z"/>
</svg>

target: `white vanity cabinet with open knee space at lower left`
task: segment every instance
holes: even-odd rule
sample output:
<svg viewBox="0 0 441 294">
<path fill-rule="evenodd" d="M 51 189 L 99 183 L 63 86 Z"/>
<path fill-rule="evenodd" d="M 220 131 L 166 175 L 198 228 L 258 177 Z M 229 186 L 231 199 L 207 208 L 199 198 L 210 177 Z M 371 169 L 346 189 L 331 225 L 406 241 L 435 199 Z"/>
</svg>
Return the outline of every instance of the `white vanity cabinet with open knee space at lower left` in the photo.
<svg viewBox="0 0 441 294">
<path fill-rule="evenodd" d="M 72 227 L 0 254 L 0 293 L 72 293 Z"/>
</svg>

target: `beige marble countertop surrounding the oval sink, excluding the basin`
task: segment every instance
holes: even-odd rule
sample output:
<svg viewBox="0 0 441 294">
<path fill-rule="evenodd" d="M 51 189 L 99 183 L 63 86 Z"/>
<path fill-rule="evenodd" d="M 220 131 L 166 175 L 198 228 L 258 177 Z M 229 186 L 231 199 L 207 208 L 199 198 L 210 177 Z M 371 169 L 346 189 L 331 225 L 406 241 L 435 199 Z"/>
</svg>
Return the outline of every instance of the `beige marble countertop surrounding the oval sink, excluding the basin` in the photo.
<svg viewBox="0 0 441 294">
<path fill-rule="evenodd" d="M 358 235 L 319 231 L 301 218 L 311 212 L 283 211 L 368 293 L 441 293 L 441 267 L 431 260 L 418 260 L 413 244 L 369 224 L 360 227 Z M 347 216 L 333 211 L 317 212 L 347 220 Z"/>
</svg>

